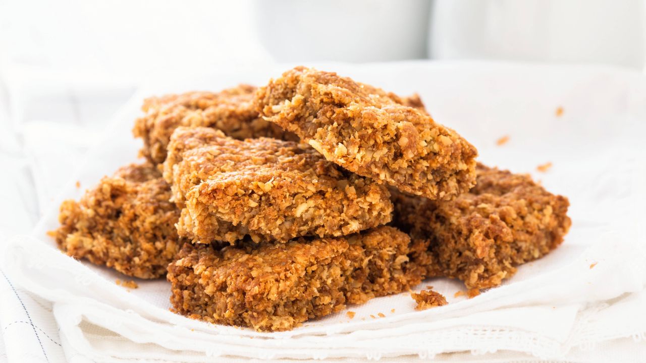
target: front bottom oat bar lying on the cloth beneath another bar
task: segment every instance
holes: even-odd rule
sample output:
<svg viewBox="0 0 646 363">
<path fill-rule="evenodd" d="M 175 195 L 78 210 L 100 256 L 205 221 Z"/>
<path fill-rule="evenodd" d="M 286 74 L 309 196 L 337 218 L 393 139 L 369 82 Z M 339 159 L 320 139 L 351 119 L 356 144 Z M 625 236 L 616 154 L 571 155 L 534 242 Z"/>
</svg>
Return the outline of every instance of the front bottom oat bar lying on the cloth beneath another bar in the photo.
<svg viewBox="0 0 646 363">
<path fill-rule="evenodd" d="M 338 238 L 214 249 L 185 244 L 169 265 L 174 310 L 216 324 L 282 331 L 422 279 L 410 238 L 378 227 Z"/>
</svg>

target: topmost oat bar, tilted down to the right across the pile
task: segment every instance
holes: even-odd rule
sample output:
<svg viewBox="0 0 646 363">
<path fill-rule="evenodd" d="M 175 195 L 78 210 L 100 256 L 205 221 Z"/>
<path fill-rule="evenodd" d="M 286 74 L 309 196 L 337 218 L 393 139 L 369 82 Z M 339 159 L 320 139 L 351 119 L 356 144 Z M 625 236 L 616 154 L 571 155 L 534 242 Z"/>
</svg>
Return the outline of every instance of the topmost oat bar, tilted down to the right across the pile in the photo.
<svg viewBox="0 0 646 363">
<path fill-rule="evenodd" d="M 437 200 L 474 185 L 475 148 L 414 101 L 401 105 L 379 88 L 297 67 L 259 88 L 254 102 L 351 172 Z"/>
</svg>

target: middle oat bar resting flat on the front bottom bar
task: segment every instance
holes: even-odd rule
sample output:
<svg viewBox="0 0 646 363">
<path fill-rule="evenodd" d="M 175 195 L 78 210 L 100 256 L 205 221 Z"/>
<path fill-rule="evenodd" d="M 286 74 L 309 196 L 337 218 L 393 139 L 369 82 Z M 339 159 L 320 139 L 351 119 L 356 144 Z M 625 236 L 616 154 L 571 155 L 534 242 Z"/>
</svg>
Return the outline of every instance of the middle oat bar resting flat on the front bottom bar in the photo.
<svg viewBox="0 0 646 363">
<path fill-rule="evenodd" d="M 180 127 L 164 177 L 182 207 L 180 236 L 195 242 L 340 236 L 391 220 L 386 187 L 291 141 Z"/>
</svg>

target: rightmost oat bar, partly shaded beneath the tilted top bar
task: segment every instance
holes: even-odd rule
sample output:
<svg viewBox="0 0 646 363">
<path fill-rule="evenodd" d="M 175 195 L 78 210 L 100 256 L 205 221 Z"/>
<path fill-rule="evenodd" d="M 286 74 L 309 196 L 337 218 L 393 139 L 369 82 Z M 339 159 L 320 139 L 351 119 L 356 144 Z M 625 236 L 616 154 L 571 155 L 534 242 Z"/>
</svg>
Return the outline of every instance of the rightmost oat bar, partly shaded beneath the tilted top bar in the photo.
<svg viewBox="0 0 646 363">
<path fill-rule="evenodd" d="M 427 276 L 458 278 L 469 289 L 501 284 L 561 244 L 571 224 L 567 198 L 528 175 L 481 164 L 475 187 L 450 202 L 392 192 L 393 224 L 428 240 L 428 256 L 417 257 L 428 263 Z"/>
</svg>

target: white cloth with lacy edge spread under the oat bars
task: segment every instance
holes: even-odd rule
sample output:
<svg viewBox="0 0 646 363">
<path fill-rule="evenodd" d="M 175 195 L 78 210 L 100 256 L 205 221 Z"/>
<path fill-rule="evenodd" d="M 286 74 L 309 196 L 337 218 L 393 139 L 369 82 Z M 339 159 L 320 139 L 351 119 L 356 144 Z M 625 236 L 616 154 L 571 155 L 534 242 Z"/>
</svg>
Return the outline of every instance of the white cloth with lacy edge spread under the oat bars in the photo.
<svg viewBox="0 0 646 363">
<path fill-rule="evenodd" d="M 352 320 L 340 313 L 289 332 L 256 333 L 174 315 L 168 311 L 167 282 L 138 280 L 140 288 L 127 291 L 114 284 L 123 276 L 68 258 L 44 236 L 56 227 L 61 199 L 78 198 L 103 174 L 134 161 L 139 143 L 130 138 L 130 127 L 143 96 L 243 81 L 261 84 L 286 68 L 212 74 L 151 86 L 134 96 L 34 234 L 13 238 L 2 254 L 9 278 L 0 326 L 12 329 L 7 325 L 12 320 L 25 320 L 30 308 L 17 308 L 15 296 L 27 295 L 43 302 L 45 311 L 52 306 L 59 329 L 57 336 L 47 334 L 48 343 L 47 327 L 30 315 L 32 323 L 17 323 L 24 326 L 19 333 L 4 335 L 8 356 L 39 357 L 48 344 L 60 344 L 65 358 L 74 362 L 242 357 L 588 362 L 614 357 L 617 349 L 623 349 L 625 361 L 645 353 L 646 244 L 640 221 L 646 172 L 640 137 L 646 128 L 646 81 L 611 68 L 426 62 L 320 66 L 401 94 L 419 92 L 435 119 L 472 141 L 485 163 L 516 172 L 554 163 L 535 176 L 548 190 L 570 198 L 573 225 L 564 244 L 523 265 L 502 287 L 470 300 L 453 296 L 463 288 L 457 282 L 435 279 L 418 289 L 433 285 L 446 295 L 448 306 L 413 311 L 413 300 L 401 294 L 349 307 L 357 313 Z M 557 107 L 563 107 L 563 116 L 556 116 Z M 509 143 L 495 146 L 503 135 L 510 136 Z M 77 180 L 83 189 L 74 187 Z M 5 293 L 12 286 L 23 292 Z M 14 307 L 6 310 L 5 305 Z M 378 313 L 386 317 L 370 318 Z M 16 353 L 21 351 L 28 353 Z"/>
</svg>

